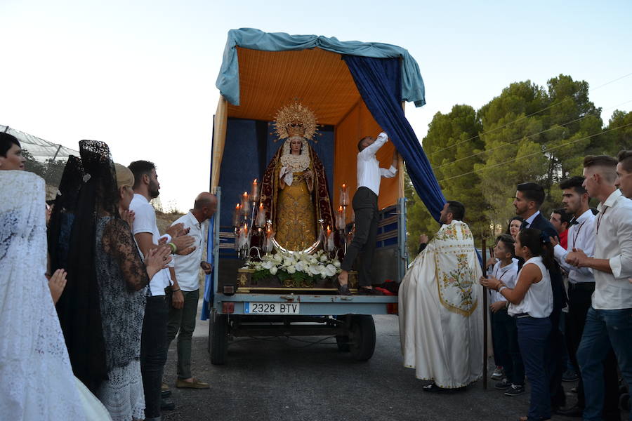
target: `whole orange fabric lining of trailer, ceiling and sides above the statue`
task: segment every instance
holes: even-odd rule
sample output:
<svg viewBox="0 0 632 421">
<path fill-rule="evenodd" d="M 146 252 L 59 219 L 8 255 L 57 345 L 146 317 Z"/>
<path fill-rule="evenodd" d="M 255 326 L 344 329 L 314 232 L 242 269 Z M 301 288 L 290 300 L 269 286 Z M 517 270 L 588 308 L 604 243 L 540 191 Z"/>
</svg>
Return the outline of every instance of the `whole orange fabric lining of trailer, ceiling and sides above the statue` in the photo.
<svg viewBox="0 0 632 421">
<path fill-rule="evenodd" d="M 240 103 L 235 106 L 220 98 L 215 116 L 213 173 L 211 187 L 219 182 L 221 159 L 228 117 L 272 121 L 279 108 L 298 100 L 316 114 L 318 123 L 336 130 L 334 156 L 334 210 L 339 206 L 340 186 L 348 185 L 350 199 L 357 189 L 357 142 L 364 136 L 377 136 L 381 128 L 364 105 L 353 77 L 341 55 L 320 48 L 298 51 L 257 51 L 237 47 L 239 58 Z M 388 168 L 393 159 L 393 143 L 388 142 L 377 154 L 381 166 Z M 383 178 L 379 208 L 397 203 L 404 195 L 400 163 L 395 178 Z M 350 212 L 348 212 L 348 220 Z"/>
</svg>

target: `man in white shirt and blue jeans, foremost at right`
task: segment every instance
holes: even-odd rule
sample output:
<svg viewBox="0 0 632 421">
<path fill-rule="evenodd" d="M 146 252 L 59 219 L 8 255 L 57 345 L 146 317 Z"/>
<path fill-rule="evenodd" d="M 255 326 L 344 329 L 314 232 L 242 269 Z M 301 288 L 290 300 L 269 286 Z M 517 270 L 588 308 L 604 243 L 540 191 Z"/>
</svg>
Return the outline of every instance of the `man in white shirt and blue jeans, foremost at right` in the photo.
<svg viewBox="0 0 632 421">
<path fill-rule="evenodd" d="M 600 201 L 595 225 L 594 257 L 575 248 L 566 260 L 593 269 L 595 292 L 586 314 L 577 361 L 584 379 L 584 420 L 602 420 L 605 401 L 603 361 L 610 349 L 617 356 L 621 375 L 632 385 L 632 201 L 614 183 L 617 159 L 584 158 L 584 188 Z M 632 420 L 632 413 L 629 419 Z"/>
</svg>

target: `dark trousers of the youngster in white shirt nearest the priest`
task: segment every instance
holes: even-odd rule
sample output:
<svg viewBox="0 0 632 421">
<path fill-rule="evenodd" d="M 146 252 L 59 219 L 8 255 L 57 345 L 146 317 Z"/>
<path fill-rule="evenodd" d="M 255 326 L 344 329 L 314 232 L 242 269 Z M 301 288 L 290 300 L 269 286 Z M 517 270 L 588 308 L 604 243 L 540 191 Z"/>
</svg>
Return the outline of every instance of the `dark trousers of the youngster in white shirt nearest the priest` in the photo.
<svg viewBox="0 0 632 421">
<path fill-rule="evenodd" d="M 492 342 L 498 365 L 505 370 L 508 382 L 514 385 L 525 384 L 525 365 L 522 363 L 518 347 L 518 328 L 515 319 L 506 309 L 492 313 Z"/>
</svg>

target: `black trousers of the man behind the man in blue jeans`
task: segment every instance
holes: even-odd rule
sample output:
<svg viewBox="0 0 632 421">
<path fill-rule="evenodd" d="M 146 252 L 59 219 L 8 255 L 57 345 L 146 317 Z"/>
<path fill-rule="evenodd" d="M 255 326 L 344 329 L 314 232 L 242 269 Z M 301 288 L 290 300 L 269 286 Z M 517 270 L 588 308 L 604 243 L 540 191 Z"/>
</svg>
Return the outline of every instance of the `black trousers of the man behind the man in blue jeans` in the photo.
<svg viewBox="0 0 632 421">
<path fill-rule="evenodd" d="M 586 325 L 586 314 L 591 308 L 595 283 L 570 283 L 568 286 L 568 314 L 566 315 L 566 345 L 570 360 L 577 369 L 579 382 L 577 383 L 577 406 L 585 408 L 584 380 L 581 378 L 579 363 L 577 363 L 577 349 L 581 342 L 581 335 Z M 605 401 L 603 403 L 604 420 L 620 420 L 619 413 L 619 375 L 617 374 L 617 359 L 610 349 L 603 361 L 603 381 L 605 382 Z"/>
</svg>

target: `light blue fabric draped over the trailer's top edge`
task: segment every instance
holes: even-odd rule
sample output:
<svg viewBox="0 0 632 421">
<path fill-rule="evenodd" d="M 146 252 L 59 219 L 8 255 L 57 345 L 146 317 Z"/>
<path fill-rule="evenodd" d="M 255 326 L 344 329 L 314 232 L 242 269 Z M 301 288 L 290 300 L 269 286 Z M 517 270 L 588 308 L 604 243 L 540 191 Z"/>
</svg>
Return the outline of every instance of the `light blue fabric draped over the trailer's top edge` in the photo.
<svg viewBox="0 0 632 421">
<path fill-rule="evenodd" d="M 232 105 L 239 105 L 237 46 L 259 51 L 293 51 L 318 47 L 333 53 L 361 57 L 401 58 L 401 88 L 400 98 L 397 100 L 414 102 L 416 107 L 426 104 L 426 91 L 419 65 L 404 48 L 374 42 L 338 41 L 335 37 L 327 36 L 268 33 L 254 28 L 242 28 L 228 31 L 222 67 L 215 83 L 220 93 Z"/>
</svg>

